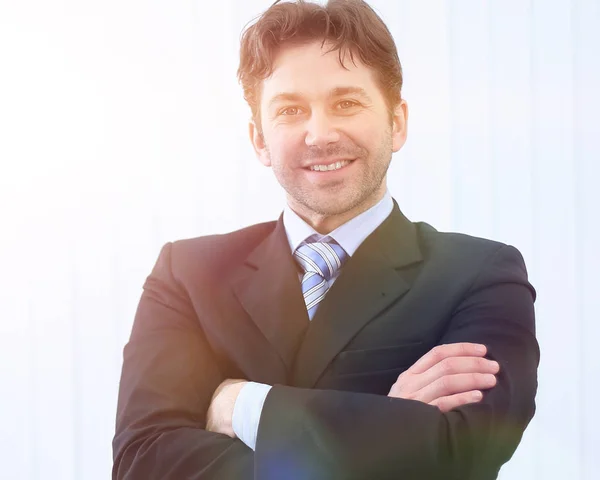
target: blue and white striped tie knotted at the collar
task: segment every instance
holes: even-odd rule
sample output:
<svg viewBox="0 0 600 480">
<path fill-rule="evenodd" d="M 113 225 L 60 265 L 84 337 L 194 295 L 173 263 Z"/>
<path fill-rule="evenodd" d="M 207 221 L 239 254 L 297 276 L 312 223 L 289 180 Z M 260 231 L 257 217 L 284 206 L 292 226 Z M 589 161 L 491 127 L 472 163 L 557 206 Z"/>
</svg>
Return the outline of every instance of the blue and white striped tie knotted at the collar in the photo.
<svg viewBox="0 0 600 480">
<path fill-rule="evenodd" d="M 302 295 L 306 303 L 308 317 L 312 320 L 317 306 L 329 290 L 329 280 L 348 258 L 344 249 L 331 237 L 308 237 L 294 252 L 294 258 L 304 270 Z"/>
</svg>

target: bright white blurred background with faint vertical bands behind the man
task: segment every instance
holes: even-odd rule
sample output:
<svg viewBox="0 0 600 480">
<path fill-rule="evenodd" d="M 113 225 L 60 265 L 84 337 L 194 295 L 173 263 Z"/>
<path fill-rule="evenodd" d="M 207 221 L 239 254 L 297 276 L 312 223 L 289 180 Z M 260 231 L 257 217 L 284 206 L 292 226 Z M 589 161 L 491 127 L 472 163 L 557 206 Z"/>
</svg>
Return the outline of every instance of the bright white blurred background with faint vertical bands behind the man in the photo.
<svg viewBox="0 0 600 480">
<path fill-rule="evenodd" d="M 271 3 L 0 0 L 2 479 L 109 478 L 160 247 L 279 215 L 235 76 Z M 515 245 L 538 291 L 538 411 L 501 479 L 598 478 L 600 2 L 370 4 L 410 107 L 390 191 L 414 221 Z"/>
</svg>

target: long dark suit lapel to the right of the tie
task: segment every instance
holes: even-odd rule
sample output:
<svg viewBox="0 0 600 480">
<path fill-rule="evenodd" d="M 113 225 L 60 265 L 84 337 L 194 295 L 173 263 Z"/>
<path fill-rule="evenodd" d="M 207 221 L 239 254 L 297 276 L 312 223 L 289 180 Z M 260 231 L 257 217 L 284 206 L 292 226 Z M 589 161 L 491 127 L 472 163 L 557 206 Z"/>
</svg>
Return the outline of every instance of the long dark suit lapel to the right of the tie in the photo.
<svg viewBox="0 0 600 480">
<path fill-rule="evenodd" d="M 294 367 L 294 385 L 311 388 L 344 346 L 410 288 L 402 270 L 422 259 L 414 225 L 396 202 L 361 244 L 319 306 Z"/>
</svg>

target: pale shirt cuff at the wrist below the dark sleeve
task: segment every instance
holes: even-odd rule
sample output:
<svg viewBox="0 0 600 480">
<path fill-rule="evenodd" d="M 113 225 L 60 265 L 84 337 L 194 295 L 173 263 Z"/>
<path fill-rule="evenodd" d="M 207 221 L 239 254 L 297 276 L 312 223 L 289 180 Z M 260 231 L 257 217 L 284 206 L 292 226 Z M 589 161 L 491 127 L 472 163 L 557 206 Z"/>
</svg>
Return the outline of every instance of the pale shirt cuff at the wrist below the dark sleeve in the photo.
<svg viewBox="0 0 600 480">
<path fill-rule="evenodd" d="M 233 431 L 252 450 L 256 447 L 260 414 L 271 388 L 264 383 L 248 382 L 240 390 L 233 406 Z"/>
</svg>

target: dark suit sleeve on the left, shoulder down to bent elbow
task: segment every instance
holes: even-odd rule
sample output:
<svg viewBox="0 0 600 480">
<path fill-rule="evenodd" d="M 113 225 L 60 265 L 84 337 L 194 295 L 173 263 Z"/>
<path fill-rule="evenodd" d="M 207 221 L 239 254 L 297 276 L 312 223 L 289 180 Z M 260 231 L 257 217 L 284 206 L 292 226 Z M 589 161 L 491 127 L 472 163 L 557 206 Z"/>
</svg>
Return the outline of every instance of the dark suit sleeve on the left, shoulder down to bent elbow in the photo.
<svg viewBox="0 0 600 480">
<path fill-rule="evenodd" d="M 113 479 L 251 479 L 254 453 L 205 430 L 224 380 L 163 247 L 144 284 L 125 346 L 113 440 Z"/>
</svg>

